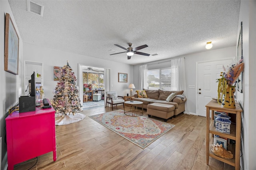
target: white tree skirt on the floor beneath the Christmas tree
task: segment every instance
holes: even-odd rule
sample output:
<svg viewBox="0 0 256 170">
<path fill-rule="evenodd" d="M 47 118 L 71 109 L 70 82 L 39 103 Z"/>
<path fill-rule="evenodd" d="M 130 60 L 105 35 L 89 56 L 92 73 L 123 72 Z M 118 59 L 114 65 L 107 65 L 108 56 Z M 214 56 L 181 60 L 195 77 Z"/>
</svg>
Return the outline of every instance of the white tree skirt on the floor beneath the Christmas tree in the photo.
<svg viewBox="0 0 256 170">
<path fill-rule="evenodd" d="M 84 118 L 84 114 L 76 113 L 73 115 L 70 113 L 70 115 L 64 115 L 64 117 L 55 117 L 55 125 L 68 125 L 70 123 L 82 121 Z"/>
</svg>

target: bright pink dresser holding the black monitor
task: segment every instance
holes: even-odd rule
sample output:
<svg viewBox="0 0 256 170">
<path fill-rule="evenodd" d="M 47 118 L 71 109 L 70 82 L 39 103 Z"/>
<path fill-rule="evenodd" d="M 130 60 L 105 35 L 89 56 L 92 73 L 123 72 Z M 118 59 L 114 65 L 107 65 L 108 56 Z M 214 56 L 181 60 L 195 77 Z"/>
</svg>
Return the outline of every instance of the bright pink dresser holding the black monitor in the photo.
<svg viewBox="0 0 256 170">
<path fill-rule="evenodd" d="M 49 102 L 50 103 L 50 102 Z M 53 152 L 56 160 L 55 110 L 13 112 L 6 117 L 8 170 L 15 164 Z"/>
</svg>

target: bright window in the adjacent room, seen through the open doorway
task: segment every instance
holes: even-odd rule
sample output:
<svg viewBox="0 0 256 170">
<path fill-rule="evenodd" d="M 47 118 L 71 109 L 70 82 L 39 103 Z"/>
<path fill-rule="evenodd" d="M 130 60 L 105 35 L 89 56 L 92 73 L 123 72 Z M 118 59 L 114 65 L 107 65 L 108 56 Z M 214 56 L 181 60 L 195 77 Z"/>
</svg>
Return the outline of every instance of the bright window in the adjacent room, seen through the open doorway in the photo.
<svg viewBox="0 0 256 170">
<path fill-rule="evenodd" d="M 83 83 L 92 84 L 94 82 L 94 89 L 104 89 L 104 73 L 90 73 L 83 72 Z"/>
</svg>

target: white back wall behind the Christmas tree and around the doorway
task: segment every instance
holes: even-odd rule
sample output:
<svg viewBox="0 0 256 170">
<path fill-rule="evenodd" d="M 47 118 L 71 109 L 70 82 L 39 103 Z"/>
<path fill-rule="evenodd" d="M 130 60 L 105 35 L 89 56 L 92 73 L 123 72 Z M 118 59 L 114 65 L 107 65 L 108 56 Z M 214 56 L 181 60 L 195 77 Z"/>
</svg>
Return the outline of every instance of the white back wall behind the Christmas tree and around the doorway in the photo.
<svg viewBox="0 0 256 170">
<path fill-rule="evenodd" d="M 110 69 L 111 74 L 110 85 L 113 85 L 110 87 L 110 90 L 117 91 L 118 95 L 122 96 L 126 95 L 126 93 L 129 92 L 128 85 L 129 83 L 132 83 L 133 79 L 133 71 L 131 65 L 117 63 L 104 59 L 97 59 L 93 57 L 88 57 L 86 55 L 79 55 L 56 49 L 50 49 L 25 42 L 23 46 L 24 60 L 42 62 L 44 65 L 44 98 L 48 98 L 50 100 L 53 99 L 52 91 L 54 90 L 58 82 L 53 80 L 53 67 L 63 67 L 67 64 L 67 61 L 70 67 L 73 69 L 77 78 L 79 71 L 78 64 L 92 67 L 108 68 Z M 106 58 L 107 57 L 108 56 L 106 55 Z M 118 72 L 128 73 L 127 83 L 118 83 Z M 76 85 L 78 85 L 78 81 L 76 82 Z M 79 88 L 82 89 L 82 87 Z M 80 97 L 80 99 L 82 101 L 82 97 Z"/>
</svg>

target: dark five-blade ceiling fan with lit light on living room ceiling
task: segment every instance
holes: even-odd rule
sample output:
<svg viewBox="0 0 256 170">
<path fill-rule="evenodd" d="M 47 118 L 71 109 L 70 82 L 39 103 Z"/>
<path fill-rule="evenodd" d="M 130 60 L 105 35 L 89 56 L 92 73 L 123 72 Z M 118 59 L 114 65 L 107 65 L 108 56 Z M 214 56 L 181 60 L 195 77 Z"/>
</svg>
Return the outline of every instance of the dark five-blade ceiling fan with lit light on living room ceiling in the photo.
<svg viewBox="0 0 256 170">
<path fill-rule="evenodd" d="M 131 59 L 132 55 L 134 55 L 134 54 L 150 56 L 150 54 L 142 53 L 142 52 L 137 51 L 137 50 L 148 47 L 148 45 L 145 44 L 145 45 L 141 45 L 141 46 L 133 48 L 132 43 L 127 43 L 127 44 L 129 45 L 128 48 L 122 47 L 121 45 L 118 45 L 118 44 L 114 44 L 114 45 L 116 45 L 116 46 L 118 46 L 122 49 L 125 49 L 126 50 L 125 52 L 120 52 L 120 53 L 126 53 L 128 59 Z M 114 54 L 120 54 L 120 53 L 114 53 Z M 114 54 L 110 54 L 110 55 L 114 55 Z"/>
</svg>

